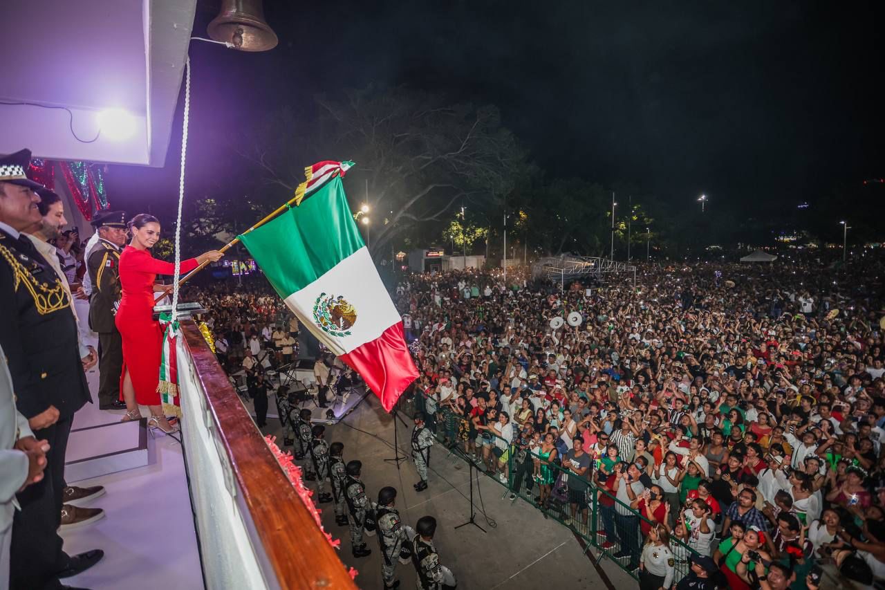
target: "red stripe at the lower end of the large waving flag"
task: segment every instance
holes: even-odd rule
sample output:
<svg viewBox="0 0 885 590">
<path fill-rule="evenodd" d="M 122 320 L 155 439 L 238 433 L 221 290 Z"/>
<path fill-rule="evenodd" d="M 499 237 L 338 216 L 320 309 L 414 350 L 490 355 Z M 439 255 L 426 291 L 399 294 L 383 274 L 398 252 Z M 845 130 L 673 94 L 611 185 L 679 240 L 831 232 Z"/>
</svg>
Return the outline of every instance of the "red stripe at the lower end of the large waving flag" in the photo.
<svg viewBox="0 0 885 590">
<path fill-rule="evenodd" d="M 405 345 L 403 322 L 396 322 L 380 337 L 339 358 L 363 377 L 388 412 L 406 387 L 418 378 L 412 353 Z"/>
</svg>

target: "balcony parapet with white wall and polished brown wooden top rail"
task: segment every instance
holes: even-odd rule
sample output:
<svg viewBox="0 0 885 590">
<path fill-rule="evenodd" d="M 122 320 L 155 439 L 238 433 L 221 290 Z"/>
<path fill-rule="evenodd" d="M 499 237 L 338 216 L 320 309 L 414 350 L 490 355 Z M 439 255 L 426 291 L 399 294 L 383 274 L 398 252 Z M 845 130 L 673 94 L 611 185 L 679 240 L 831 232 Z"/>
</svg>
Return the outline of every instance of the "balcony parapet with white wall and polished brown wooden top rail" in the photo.
<svg viewBox="0 0 885 590">
<path fill-rule="evenodd" d="M 197 506 L 199 502 L 196 499 L 202 493 L 201 482 L 195 479 L 195 473 L 191 473 L 189 469 L 196 519 L 207 518 L 205 515 L 217 515 L 222 521 L 219 524 L 214 522 L 216 516 L 208 516 L 212 523 L 196 523 L 197 531 L 200 532 L 206 586 L 212 588 L 226 585 L 226 579 L 235 579 L 241 575 L 231 570 L 216 578 L 210 571 L 211 568 L 225 570 L 228 563 L 239 565 L 243 561 L 252 561 L 252 570 L 260 572 L 267 588 L 356 588 L 335 555 L 335 549 L 329 546 L 313 516 L 304 507 L 301 498 L 281 470 L 196 324 L 185 320 L 181 322 L 181 327 L 189 352 L 189 362 L 193 366 L 190 375 L 180 376 L 182 407 L 189 402 L 185 399 L 184 391 L 188 387 L 196 389 L 196 396 L 195 392 L 189 392 L 191 398 L 197 398 L 190 400 L 190 403 L 196 401 L 196 404 L 202 406 L 191 407 L 192 411 L 186 411 L 182 421 L 186 457 L 189 466 L 196 462 L 218 461 L 223 474 L 223 477 L 218 477 L 218 470 L 194 470 L 198 473 L 216 474 L 214 477 L 204 477 L 206 496 L 203 497 L 203 505 Z M 202 400 L 198 398 L 199 395 L 203 396 Z M 199 423 L 201 418 L 203 423 Z M 192 422 L 190 431 L 189 421 Z M 203 431 L 197 432 L 204 426 Z M 202 439 L 191 438 L 197 434 Z M 212 444 L 205 439 L 211 439 Z M 189 440 L 192 448 L 187 447 Z M 217 456 L 211 456 L 212 446 L 216 449 Z M 200 449 L 201 454 L 209 456 L 195 456 L 195 449 Z M 223 484 L 219 484 L 222 481 Z M 205 501 L 211 493 L 218 500 L 213 497 L 212 501 Z M 239 512 L 238 516 L 232 518 L 226 512 L 219 512 L 226 510 L 228 501 L 232 502 L 233 512 Z M 235 539 L 204 538 L 225 534 L 242 537 L 243 532 L 248 538 L 248 545 L 244 540 L 237 544 Z M 242 547 L 248 546 L 253 555 L 222 555 L 229 552 L 242 554 Z M 210 552 L 213 555 L 209 555 Z M 256 577 L 253 575 L 253 578 Z M 253 586 L 255 582 L 254 579 L 250 581 L 251 588 L 256 587 Z"/>
</svg>

